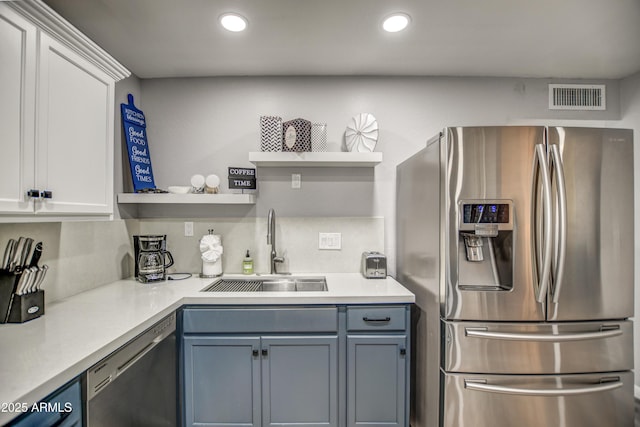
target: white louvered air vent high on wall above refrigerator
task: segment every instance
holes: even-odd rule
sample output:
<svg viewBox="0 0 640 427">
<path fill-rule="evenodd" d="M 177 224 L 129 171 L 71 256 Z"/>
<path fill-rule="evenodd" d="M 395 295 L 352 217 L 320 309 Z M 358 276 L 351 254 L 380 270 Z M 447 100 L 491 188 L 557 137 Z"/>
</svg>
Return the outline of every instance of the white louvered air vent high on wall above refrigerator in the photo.
<svg viewBox="0 0 640 427">
<path fill-rule="evenodd" d="M 606 110 L 605 85 L 549 85 L 550 110 Z"/>
</svg>

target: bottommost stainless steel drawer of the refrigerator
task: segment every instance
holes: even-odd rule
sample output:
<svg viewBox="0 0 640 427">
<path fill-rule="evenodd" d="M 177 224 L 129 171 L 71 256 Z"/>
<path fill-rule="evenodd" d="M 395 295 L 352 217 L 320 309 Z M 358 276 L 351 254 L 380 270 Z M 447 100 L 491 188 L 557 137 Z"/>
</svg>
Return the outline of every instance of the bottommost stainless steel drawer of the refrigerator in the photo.
<svg viewBox="0 0 640 427">
<path fill-rule="evenodd" d="M 443 374 L 444 427 L 633 427 L 633 373 Z"/>
</svg>

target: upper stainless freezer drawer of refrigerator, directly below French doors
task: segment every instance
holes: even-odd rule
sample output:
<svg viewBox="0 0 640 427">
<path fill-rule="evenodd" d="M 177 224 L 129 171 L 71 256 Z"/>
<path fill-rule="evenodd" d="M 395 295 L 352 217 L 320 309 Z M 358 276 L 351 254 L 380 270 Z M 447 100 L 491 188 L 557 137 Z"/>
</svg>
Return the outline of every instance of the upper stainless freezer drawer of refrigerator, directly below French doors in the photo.
<svg viewBox="0 0 640 427">
<path fill-rule="evenodd" d="M 442 326 L 442 367 L 447 372 L 575 374 L 633 369 L 633 325 L 629 320 L 443 322 Z"/>
</svg>

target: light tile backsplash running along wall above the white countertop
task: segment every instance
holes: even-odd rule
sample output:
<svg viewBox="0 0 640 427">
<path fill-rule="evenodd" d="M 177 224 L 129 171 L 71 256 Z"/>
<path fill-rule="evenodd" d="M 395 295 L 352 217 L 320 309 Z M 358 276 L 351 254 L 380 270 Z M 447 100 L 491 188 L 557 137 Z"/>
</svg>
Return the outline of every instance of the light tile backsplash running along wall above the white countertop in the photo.
<svg viewBox="0 0 640 427">
<path fill-rule="evenodd" d="M 194 223 L 194 235 L 184 236 L 184 222 Z M 360 271 L 364 251 L 384 252 L 382 217 L 278 217 L 276 249 L 285 258 L 279 271 L 347 273 Z M 223 272 L 242 272 L 250 251 L 256 273 L 269 272 L 267 219 L 128 219 L 93 222 L 0 224 L 0 250 L 19 236 L 42 241 L 40 264 L 50 267 L 43 283 L 46 303 L 61 300 L 134 274 L 132 236 L 166 234 L 175 264 L 169 272 L 200 273 L 199 240 L 213 229 L 222 237 Z M 342 249 L 318 249 L 319 233 L 341 233 Z"/>
</svg>

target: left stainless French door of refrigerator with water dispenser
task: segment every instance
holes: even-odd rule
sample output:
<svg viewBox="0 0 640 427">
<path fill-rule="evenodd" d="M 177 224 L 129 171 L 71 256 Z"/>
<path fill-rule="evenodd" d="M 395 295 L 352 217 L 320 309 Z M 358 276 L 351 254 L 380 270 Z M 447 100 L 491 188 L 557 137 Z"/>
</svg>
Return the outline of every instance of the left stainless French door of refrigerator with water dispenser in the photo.
<svg viewBox="0 0 640 427">
<path fill-rule="evenodd" d="M 544 128 L 448 128 L 444 144 L 442 317 L 544 320 L 545 298 L 536 301 L 533 284 L 529 231 L 535 147 L 544 144 Z M 490 203 L 483 206 L 483 201 Z M 494 219 L 483 216 L 489 208 L 497 209 Z M 502 213 L 504 221 L 499 218 Z M 494 223 L 480 224 L 483 221 Z M 474 230 L 476 224 L 486 229 Z M 491 233 L 492 225 L 495 235 L 479 235 Z"/>
</svg>

